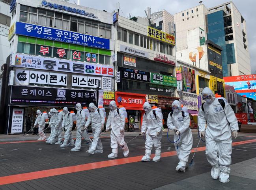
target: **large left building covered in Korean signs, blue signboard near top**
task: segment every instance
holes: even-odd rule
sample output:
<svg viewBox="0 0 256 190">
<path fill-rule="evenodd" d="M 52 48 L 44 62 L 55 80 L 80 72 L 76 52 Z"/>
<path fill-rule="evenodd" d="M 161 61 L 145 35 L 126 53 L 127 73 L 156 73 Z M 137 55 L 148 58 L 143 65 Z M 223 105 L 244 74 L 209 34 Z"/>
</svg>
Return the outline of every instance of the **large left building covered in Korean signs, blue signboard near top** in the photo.
<svg viewBox="0 0 256 190">
<path fill-rule="evenodd" d="M 13 0 L 1 105 L 5 133 L 22 132 L 36 110 L 103 106 L 114 91 L 112 13 L 60 0 Z M 9 47 L 8 47 L 9 48 Z"/>
</svg>

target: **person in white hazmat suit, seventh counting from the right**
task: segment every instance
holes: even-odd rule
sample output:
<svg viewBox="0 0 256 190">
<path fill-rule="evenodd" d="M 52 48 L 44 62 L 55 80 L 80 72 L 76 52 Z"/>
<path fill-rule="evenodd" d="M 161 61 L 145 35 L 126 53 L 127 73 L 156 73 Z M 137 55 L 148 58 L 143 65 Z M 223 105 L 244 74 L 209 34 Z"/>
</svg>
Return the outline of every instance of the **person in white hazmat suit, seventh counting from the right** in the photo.
<svg viewBox="0 0 256 190">
<path fill-rule="evenodd" d="M 64 117 L 63 117 L 63 123 L 62 126 L 64 126 L 65 129 L 65 135 L 64 135 L 64 141 L 62 143 L 62 145 L 60 145 L 60 147 L 67 147 L 67 143 L 69 141 L 69 143 L 71 143 L 71 146 L 75 145 L 75 141 L 73 139 L 73 135 L 72 135 L 72 127 L 73 127 L 73 116 L 71 113 L 69 113 L 69 111 L 67 110 L 67 107 L 63 108 L 63 113 L 64 113 Z"/>
</svg>

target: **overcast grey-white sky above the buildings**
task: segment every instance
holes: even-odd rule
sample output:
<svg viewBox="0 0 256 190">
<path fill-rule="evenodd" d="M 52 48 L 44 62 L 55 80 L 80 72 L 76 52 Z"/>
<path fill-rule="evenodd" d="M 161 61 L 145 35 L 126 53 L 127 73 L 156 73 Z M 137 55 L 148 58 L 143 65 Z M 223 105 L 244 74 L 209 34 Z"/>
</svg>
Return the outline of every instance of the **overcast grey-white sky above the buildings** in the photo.
<svg viewBox="0 0 256 190">
<path fill-rule="evenodd" d="M 77 0 L 75 0 L 77 2 Z M 73 2 L 70 0 L 69 2 Z M 144 9 L 151 7 L 151 13 L 165 9 L 172 15 L 180 11 L 195 7 L 199 0 L 80 0 L 80 4 L 98 10 L 114 11 L 116 2 L 120 2 L 121 16 L 146 16 Z M 229 2 L 228 0 L 203 0 L 207 8 Z M 252 73 L 256 73 L 256 25 L 255 25 L 255 0 L 233 0 L 235 6 L 240 11 L 247 25 L 247 40 L 249 42 L 250 64 Z"/>
</svg>

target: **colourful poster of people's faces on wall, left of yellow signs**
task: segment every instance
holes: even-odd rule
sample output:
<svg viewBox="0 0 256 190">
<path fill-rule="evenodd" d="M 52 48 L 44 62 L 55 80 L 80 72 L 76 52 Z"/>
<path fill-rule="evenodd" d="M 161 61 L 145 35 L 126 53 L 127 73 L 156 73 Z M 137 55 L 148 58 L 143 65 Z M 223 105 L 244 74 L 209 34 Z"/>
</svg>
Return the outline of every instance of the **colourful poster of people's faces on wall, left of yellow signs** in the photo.
<svg viewBox="0 0 256 190">
<path fill-rule="evenodd" d="M 183 91 L 196 93 L 195 70 L 187 67 L 182 68 Z"/>
</svg>

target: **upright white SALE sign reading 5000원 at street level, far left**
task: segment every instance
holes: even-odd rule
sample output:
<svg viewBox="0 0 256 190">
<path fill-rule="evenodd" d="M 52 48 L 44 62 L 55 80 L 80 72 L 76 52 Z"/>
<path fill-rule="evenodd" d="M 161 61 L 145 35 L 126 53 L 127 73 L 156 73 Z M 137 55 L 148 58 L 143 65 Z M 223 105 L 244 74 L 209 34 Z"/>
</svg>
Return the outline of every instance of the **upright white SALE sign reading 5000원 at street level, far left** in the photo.
<svg viewBox="0 0 256 190">
<path fill-rule="evenodd" d="M 24 109 L 13 108 L 11 133 L 22 133 Z"/>
</svg>

